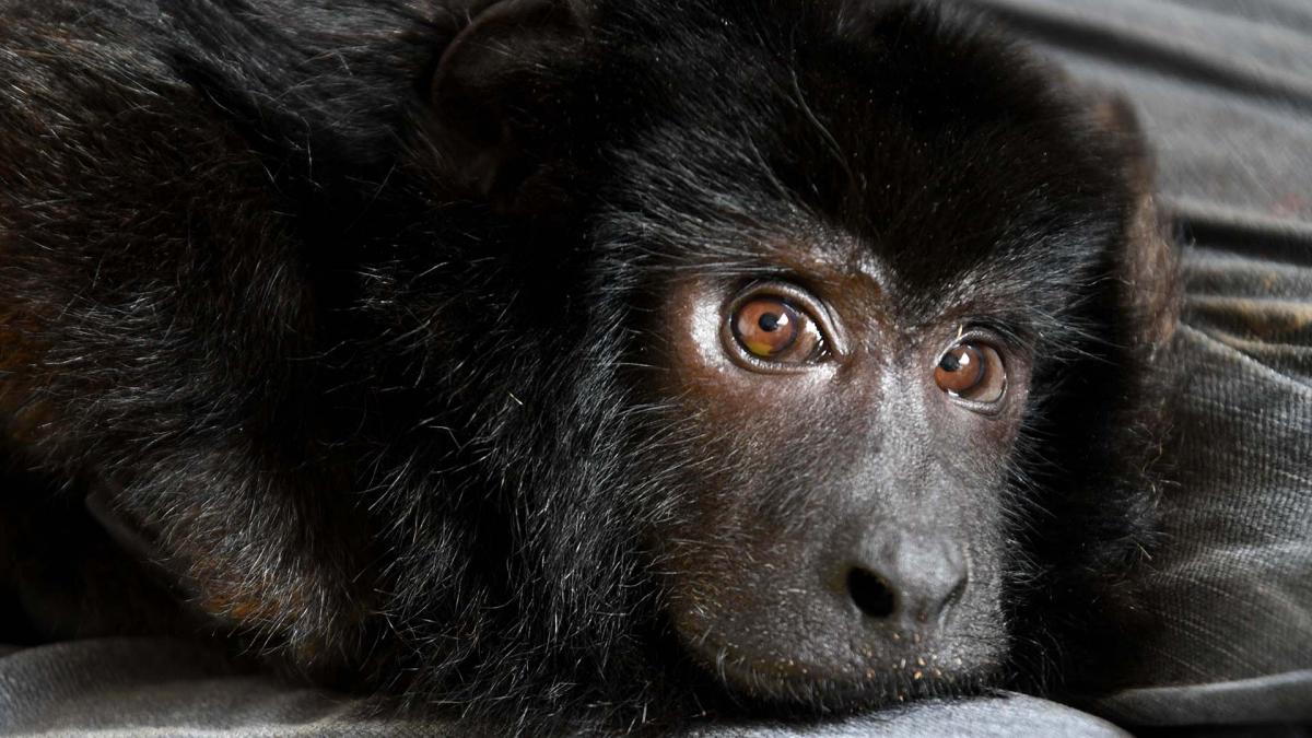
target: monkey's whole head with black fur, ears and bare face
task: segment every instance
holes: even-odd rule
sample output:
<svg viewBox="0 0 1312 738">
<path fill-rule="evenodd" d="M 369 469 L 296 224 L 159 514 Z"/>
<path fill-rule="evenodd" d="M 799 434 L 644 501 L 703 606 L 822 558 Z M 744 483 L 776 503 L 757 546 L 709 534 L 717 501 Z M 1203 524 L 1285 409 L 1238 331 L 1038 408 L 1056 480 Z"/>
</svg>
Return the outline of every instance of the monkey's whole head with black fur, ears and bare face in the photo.
<svg viewBox="0 0 1312 738">
<path fill-rule="evenodd" d="M 1123 106 L 916 5 L 516 8 L 436 109 L 496 133 L 474 179 L 526 239 L 585 253 L 626 408 L 607 504 L 642 508 L 690 659 L 879 704 L 997 683 L 1017 628 L 1092 607 L 1138 550 L 1118 439 L 1172 316 Z"/>
</svg>

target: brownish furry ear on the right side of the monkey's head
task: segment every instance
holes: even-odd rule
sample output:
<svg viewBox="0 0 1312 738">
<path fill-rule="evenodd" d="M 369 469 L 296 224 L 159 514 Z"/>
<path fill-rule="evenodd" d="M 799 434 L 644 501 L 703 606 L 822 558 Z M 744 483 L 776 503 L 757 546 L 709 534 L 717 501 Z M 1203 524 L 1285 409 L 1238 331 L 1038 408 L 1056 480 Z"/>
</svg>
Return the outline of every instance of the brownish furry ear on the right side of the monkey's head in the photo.
<svg viewBox="0 0 1312 738">
<path fill-rule="evenodd" d="M 1179 276 L 1174 247 L 1157 209 L 1155 164 L 1134 106 L 1119 95 L 1097 93 L 1093 123 L 1113 138 L 1124 181 L 1134 197 L 1127 240 L 1117 271 L 1131 316 L 1131 339 L 1152 360 L 1174 335 L 1179 316 Z"/>
</svg>

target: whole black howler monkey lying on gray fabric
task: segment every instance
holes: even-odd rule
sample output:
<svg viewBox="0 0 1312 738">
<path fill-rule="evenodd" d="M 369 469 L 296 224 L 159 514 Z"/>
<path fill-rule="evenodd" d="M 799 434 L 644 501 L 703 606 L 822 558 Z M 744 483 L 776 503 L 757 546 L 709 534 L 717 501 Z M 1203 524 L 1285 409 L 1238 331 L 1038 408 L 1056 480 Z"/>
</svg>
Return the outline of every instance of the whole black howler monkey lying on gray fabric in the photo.
<svg viewBox="0 0 1312 738">
<path fill-rule="evenodd" d="M 920 3 L 3 0 L 0 592 L 534 725 L 1044 679 L 1149 536 L 1149 179 Z"/>
</svg>

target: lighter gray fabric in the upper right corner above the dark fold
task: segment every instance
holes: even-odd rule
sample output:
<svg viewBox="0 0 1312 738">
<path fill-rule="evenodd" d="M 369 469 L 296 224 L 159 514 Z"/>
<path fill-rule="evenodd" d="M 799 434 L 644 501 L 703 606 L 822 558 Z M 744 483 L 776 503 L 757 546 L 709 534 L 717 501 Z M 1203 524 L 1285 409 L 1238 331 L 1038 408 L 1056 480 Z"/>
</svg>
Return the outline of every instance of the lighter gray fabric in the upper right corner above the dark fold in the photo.
<svg viewBox="0 0 1312 738">
<path fill-rule="evenodd" d="M 972 0 L 1082 83 L 1135 102 L 1168 210 L 1248 226 L 1248 253 L 1312 238 L 1312 3 Z M 1279 244 L 1267 244 L 1270 239 Z M 1307 293 L 1304 293 L 1307 297 Z"/>
</svg>

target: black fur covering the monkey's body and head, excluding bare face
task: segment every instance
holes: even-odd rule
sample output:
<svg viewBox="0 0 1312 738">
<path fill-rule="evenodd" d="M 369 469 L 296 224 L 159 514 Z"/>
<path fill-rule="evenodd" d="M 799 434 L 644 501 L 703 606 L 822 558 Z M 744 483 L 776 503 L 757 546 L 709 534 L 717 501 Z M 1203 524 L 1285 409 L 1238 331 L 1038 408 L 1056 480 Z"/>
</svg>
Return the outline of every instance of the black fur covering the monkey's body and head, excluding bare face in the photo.
<svg viewBox="0 0 1312 738">
<path fill-rule="evenodd" d="M 970 17 L 840 0 L 579 3 L 446 116 L 430 80 L 487 4 L 0 1 L 5 508 L 105 500 L 188 612 L 412 705 L 758 709 L 670 634 L 686 559 L 653 541 L 740 470 L 660 391 L 660 305 L 842 232 L 901 314 L 964 293 L 1034 356 L 988 533 L 1008 655 L 886 697 L 1102 647 L 1173 315 L 1123 126 Z M 31 615 L 21 528 L 0 575 Z"/>
</svg>

